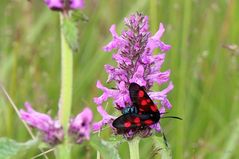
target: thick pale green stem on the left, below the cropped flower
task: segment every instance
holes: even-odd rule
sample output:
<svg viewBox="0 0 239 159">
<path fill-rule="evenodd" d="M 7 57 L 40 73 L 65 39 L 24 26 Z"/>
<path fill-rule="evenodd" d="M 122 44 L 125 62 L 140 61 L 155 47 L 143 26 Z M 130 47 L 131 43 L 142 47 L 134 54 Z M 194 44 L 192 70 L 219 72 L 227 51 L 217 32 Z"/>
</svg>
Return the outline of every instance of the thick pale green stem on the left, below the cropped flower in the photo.
<svg viewBox="0 0 239 159">
<path fill-rule="evenodd" d="M 56 156 L 59 159 L 70 159 L 71 146 L 68 143 L 67 130 L 72 103 L 73 52 L 63 33 L 62 25 L 64 18 L 67 17 L 63 17 L 61 14 L 61 96 L 59 102 L 59 120 L 64 128 L 65 142 L 58 146 Z"/>
</svg>

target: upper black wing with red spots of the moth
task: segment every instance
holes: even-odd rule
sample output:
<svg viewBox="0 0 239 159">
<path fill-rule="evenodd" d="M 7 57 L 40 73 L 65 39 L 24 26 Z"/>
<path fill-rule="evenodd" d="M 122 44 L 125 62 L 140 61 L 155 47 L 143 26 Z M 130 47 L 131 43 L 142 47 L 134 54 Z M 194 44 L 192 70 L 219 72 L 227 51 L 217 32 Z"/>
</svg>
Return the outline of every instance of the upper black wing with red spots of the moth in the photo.
<svg viewBox="0 0 239 159">
<path fill-rule="evenodd" d="M 158 114 L 160 116 L 157 106 L 150 99 L 143 87 L 137 83 L 131 83 L 129 94 L 133 105 L 138 108 L 139 114 Z"/>
</svg>

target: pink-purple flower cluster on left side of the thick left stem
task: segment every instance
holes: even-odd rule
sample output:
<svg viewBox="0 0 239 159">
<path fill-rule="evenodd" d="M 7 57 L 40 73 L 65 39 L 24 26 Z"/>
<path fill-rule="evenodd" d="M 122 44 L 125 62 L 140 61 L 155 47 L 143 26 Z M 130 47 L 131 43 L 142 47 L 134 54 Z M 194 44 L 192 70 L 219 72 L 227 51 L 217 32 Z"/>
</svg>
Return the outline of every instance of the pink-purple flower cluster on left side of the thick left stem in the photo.
<svg viewBox="0 0 239 159">
<path fill-rule="evenodd" d="M 21 119 L 38 129 L 44 142 L 54 146 L 63 141 L 64 131 L 58 120 L 53 120 L 47 114 L 36 112 L 27 102 L 25 108 L 26 110 L 20 110 Z"/>
</svg>

